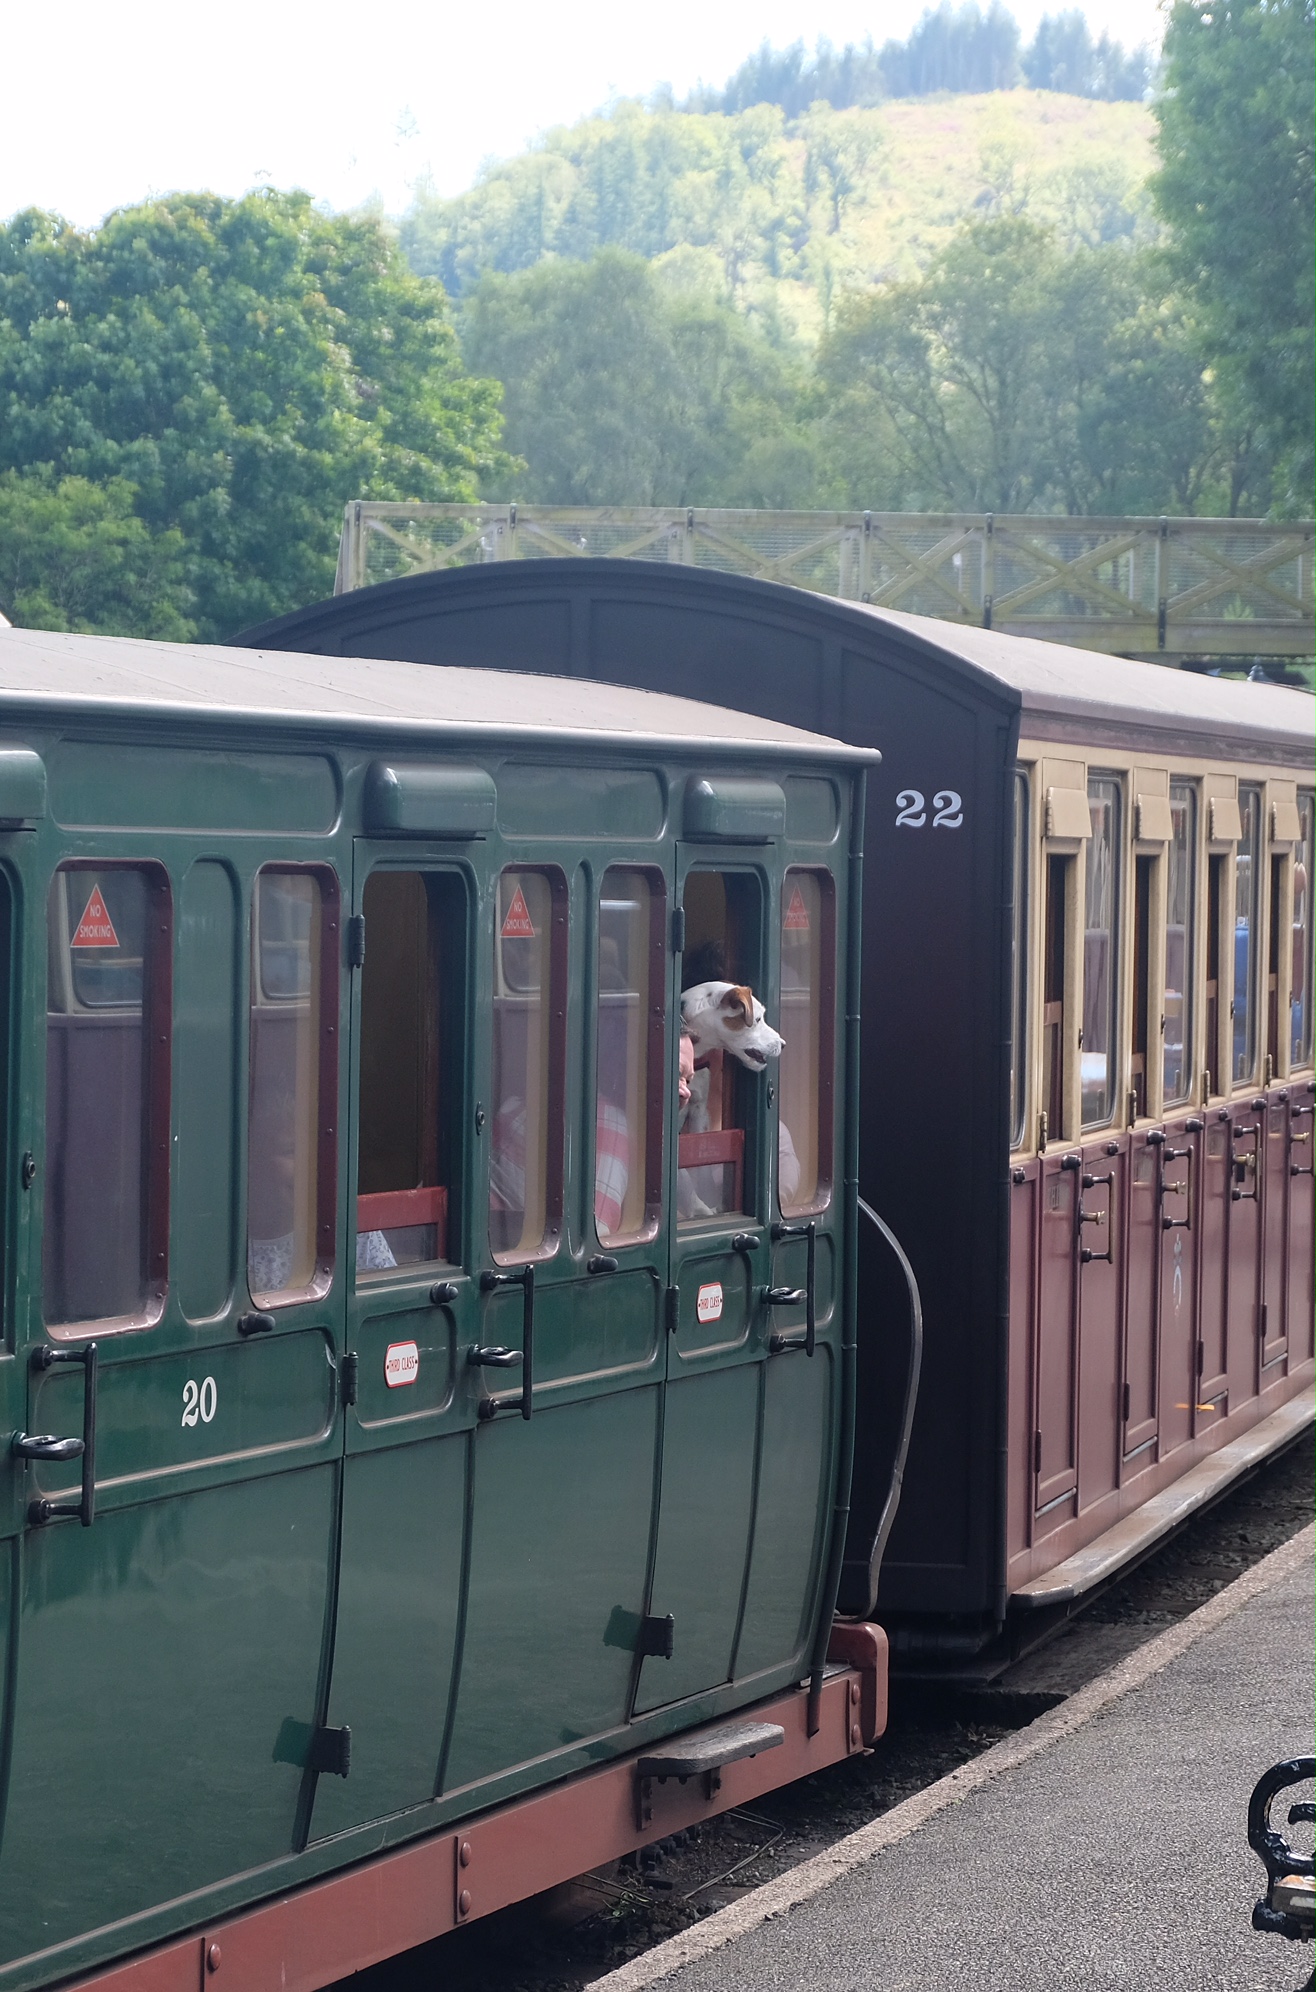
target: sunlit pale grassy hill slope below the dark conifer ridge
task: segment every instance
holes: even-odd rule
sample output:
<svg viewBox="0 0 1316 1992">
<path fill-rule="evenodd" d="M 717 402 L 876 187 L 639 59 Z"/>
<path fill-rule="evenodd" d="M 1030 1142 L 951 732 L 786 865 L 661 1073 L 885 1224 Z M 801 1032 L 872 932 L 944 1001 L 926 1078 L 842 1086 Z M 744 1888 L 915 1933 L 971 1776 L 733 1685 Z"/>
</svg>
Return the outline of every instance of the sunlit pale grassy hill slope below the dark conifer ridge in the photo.
<svg viewBox="0 0 1316 1992">
<path fill-rule="evenodd" d="M 402 243 L 456 297 L 486 271 L 617 245 L 812 343 L 840 291 L 916 275 L 970 213 L 1027 213 L 1067 245 L 1151 235 L 1151 165 L 1147 106 L 1041 90 L 796 120 L 623 102 L 456 199 L 420 193 Z"/>
</svg>

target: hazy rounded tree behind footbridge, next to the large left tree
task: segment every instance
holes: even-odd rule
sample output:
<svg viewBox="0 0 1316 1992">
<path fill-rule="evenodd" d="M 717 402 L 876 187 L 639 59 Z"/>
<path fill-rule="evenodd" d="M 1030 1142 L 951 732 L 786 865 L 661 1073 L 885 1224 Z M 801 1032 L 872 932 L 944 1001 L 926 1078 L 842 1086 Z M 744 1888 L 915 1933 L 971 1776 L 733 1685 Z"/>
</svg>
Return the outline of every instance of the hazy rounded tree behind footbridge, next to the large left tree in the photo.
<svg viewBox="0 0 1316 1992">
<path fill-rule="evenodd" d="M 603 249 L 486 277 L 464 303 L 462 339 L 504 382 L 508 442 L 526 460 L 508 496 L 784 502 L 747 492 L 784 488 L 784 460 L 763 444 L 792 430 L 792 365 L 727 305 L 673 297 L 641 257 Z"/>
</svg>

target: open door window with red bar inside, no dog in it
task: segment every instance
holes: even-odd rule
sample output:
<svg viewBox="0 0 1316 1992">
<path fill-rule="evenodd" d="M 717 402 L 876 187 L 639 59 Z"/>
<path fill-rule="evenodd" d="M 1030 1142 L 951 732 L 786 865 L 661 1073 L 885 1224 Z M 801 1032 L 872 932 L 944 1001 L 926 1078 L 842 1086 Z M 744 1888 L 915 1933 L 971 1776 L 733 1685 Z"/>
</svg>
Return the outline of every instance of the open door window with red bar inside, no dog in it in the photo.
<svg viewBox="0 0 1316 1992">
<path fill-rule="evenodd" d="M 450 1257 L 464 892 L 448 872 L 374 871 L 362 898 L 356 1271 Z"/>
</svg>

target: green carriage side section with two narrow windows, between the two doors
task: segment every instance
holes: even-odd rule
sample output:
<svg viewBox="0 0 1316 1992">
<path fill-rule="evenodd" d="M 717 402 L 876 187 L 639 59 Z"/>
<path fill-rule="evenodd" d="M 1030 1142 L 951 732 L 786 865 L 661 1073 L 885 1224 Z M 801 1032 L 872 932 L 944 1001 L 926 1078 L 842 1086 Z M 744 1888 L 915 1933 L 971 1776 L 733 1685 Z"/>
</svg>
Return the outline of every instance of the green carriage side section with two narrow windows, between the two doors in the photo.
<svg viewBox="0 0 1316 1992">
<path fill-rule="evenodd" d="M 671 978 L 671 874 L 643 853 L 504 853 L 490 878 L 470 1578 L 444 1791 L 587 1761 L 625 1723 L 643 1645 Z"/>
</svg>

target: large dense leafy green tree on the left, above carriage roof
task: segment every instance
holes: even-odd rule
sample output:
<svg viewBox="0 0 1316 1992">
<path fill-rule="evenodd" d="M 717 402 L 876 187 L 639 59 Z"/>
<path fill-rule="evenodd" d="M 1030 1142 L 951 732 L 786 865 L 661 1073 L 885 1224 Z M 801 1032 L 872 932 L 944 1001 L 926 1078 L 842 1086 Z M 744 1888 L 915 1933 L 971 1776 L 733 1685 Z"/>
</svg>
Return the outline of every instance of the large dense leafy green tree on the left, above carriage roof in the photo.
<svg viewBox="0 0 1316 1992">
<path fill-rule="evenodd" d="M 125 480 L 207 637 L 332 586 L 348 498 L 470 498 L 498 388 L 378 219 L 171 195 L 0 229 L 0 470 Z"/>
</svg>

